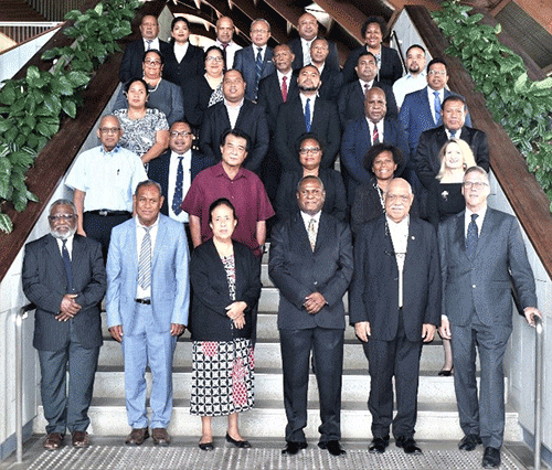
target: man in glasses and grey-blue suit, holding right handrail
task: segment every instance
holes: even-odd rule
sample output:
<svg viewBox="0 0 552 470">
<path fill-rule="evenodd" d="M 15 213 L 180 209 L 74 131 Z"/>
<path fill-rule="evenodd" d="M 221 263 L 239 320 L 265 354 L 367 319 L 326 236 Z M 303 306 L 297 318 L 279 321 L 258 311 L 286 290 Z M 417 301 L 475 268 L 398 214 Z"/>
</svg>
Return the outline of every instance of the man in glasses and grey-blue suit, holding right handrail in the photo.
<svg viewBox="0 0 552 470">
<path fill-rule="evenodd" d="M 443 275 L 440 335 L 452 340 L 460 450 L 485 446 L 484 468 L 500 466 L 505 432 L 502 360 L 512 331 L 511 286 L 534 325 L 534 277 L 516 218 L 487 206 L 489 177 L 479 167 L 464 175 L 466 210 L 439 226 Z M 476 345 L 481 365 L 479 394 Z"/>
</svg>

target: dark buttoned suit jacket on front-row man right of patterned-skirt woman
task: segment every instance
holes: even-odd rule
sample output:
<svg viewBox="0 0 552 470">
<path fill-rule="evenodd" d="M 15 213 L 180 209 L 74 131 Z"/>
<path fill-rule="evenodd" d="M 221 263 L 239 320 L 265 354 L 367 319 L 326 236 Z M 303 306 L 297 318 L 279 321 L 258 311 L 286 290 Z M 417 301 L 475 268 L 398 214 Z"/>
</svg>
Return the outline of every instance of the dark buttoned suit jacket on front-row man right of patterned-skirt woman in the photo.
<svg viewBox="0 0 552 470">
<path fill-rule="evenodd" d="M 322 212 L 314 252 L 300 213 L 278 223 L 270 237 L 268 274 L 280 292 L 278 329 L 344 329 L 343 295 L 352 276 L 351 231 L 346 223 Z M 327 301 L 316 314 L 302 307 L 312 292 Z"/>
</svg>

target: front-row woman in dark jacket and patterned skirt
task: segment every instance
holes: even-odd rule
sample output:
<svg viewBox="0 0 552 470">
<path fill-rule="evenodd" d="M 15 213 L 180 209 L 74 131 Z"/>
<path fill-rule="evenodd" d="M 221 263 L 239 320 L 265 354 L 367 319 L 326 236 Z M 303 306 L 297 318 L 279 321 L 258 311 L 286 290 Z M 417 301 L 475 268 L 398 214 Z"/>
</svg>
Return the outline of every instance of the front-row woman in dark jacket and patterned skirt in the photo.
<svg viewBox="0 0 552 470">
<path fill-rule="evenodd" d="M 224 415 L 226 441 L 248 448 L 237 414 L 253 407 L 252 309 L 261 296 L 261 264 L 246 246 L 232 241 L 237 218 L 227 199 L 213 202 L 209 213 L 213 238 L 194 249 L 190 264 L 190 413 L 201 416 L 200 449 L 214 448 L 211 420 Z"/>
</svg>

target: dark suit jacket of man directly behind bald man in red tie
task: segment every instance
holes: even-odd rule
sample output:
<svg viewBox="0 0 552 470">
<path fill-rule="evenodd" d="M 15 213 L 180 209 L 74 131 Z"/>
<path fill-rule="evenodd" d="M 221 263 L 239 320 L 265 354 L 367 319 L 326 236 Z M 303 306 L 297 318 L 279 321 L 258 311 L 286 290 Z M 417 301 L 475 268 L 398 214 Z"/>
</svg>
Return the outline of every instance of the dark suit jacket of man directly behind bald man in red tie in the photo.
<svg viewBox="0 0 552 470">
<path fill-rule="evenodd" d="M 396 102 L 393 89 L 389 85 L 376 81 L 372 84 L 372 87 L 374 86 L 385 92 L 385 102 L 388 103 L 385 117 L 396 119 L 399 117 L 399 111 L 396 110 Z M 364 92 L 362 90 L 359 81 L 354 81 L 342 86 L 338 97 L 338 109 L 341 127 L 343 128 L 349 120 L 364 117 Z"/>
</svg>

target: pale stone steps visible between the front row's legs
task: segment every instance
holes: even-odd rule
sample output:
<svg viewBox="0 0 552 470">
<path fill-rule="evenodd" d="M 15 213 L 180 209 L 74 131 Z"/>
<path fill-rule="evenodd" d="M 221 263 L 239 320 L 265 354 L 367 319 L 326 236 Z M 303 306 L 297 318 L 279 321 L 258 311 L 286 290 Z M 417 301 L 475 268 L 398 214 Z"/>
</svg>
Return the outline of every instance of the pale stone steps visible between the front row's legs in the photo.
<svg viewBox="0 0 552 470">
<path fill-rule="evenodd" d="M 278 290 L 268 278 L 267 255 L 263 259 L 263 291 L 259 300 L 257 344 L 255 348 L 255 407 L 240 416 L 240 430 L 246 438 L 275 438 L 284 441 L 286 415 L 284 412 L 282 359 L 277 330 Z M 347 307 L 347 302 L 346 302 Z M 99 353 L 99 366 L 94 386 L 94 399 L 89 410 L 92 425 L 88 431 L 96 436 L 126 436 L 129 432 L 125 409 L 125 374 L 120 344 L 110 339 L 106 313 L 103 313 L 104 345 Z M 173 412 L 169 431 L 173 436 L 201 436 L 201 420 L 190 415 L 191 350 L 189 333 L 177 344 L 173 362 Z M 453 377 L 439 377 L 443 365 L 443 346 L 439 341 L 424 345 L 421 362 L 418 392 L 418 440 L 458 440 L 463 432 L 454 394 Z M 148 396 L 151 375 L 147 373 Z M 507 387 L 506 387 L 507 388 Z M 343 439 L 371 438 L 371 415 L 367 402 L 370 389 L 368 362 L 362 345 L 351 327 L 346 330 L 343 359 L 343 388 L 341 432 Z M 39 407 L 33 431 L 45 429 L 42 406 Z M 320 425 L 318 388 L 310 374 L 307 439 L 318 440 Z M 213 419 L 213 434 L 224 436 L 226 419 Z M 518 414 L 507 404 L 505 440 L 520 441 Z"/>
</svg>

